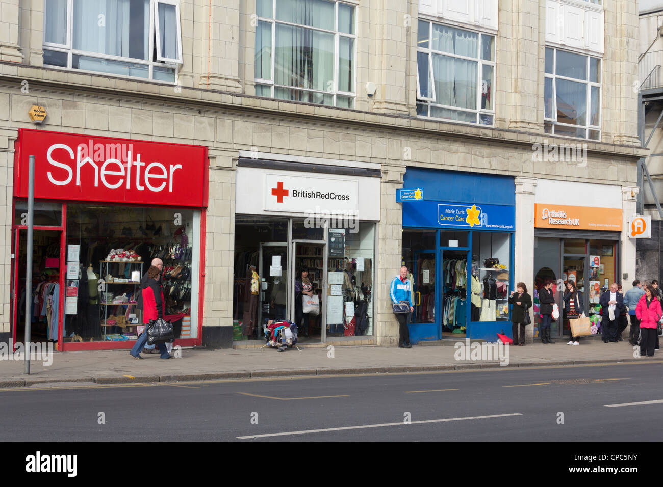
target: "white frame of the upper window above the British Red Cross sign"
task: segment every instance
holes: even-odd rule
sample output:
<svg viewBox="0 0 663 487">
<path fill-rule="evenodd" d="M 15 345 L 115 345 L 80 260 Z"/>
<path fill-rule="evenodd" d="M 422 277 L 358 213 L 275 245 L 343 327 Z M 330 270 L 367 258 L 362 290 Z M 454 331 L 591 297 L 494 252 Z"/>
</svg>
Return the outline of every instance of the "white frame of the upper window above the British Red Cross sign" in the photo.
<svg viewBox="0 0 663 487">
<path fill-rule="evenodd" d="M 355 107 L 355 97 L 357 96 L 356 93 L 356 84 L 357 84 L 357 5 L 354 3 L 350 2 L 344 2 L 344 1 L 339 1 L 339 0 L 328 0 L 328 1 L 333 1 L 334 3 L 334 30 L 328 30 L 326 28 L 320 28 L 320 27 L 310 27 L 308 25 L 300 25 L 300 24 L 294 24 L 290 22 L 285 22 L 285 21 L 278 21 L 276 20 L 276 0 L 272 0 L 272 17 L 271 19 L 267 17 L 257 17 L 257 21 L 259 22 L 264 22 L 264 23 L 269 23 L 272 26 L 272 45 L 271 45 L 271 80 L 265 80 L 265 78 L 254 78 L 255 84 L 257 85 L 267 85 L 270 88 L 269 92 L 269 97 L 274 98 L 274 88 L 283 88 L 283 89 L 293 89 L 296 91 L 304 91 L 306 93 L 322 93 L 324 95 L 332 95 L 333 96 L 333 105 L 324 105 L 324 106 L 336 106 L 336 99 L 337 96 L 341 97 L 346 97 L 351 99 L 351 106 L 350 108 L 353 109 Z M 343 5 L 347 5 L 348 7 L 351 7 L 354 11 L 354 23 L 355 25 L 353 26 L 353 30 L 355 31 L 355 34 L 347 34 L 346 32 L 339 32 L 338 30 L 338 5 L 339 3 L 342 3 Z M 289 27 L 298 27 L 298 28 L 308 28 L 310 30 L 317 30 L 318 32 L 326 32 L 328 34 L 333 34 L 334 36 L 334 55 L 333 55 L 333 91 L 323 91 L 323 90 L 318 90 L 318 89 L 311 89 L 311 88 L 302 88 L 302 87 L 297 87 L 297 86 L 288 86 L 288 85 L 278 85 L 274 83 L 274 55 L 276 54 L 276 51 L 274 49 L 274 46 L 276 45 L 276 24 L 280 25 L 287 25 Z M 258 23 L 256 23 L 256 27 L 258 26 Z M 339 81 L 339 73 L 338 73 L 338 64 L 339 64 L 339 45 L 340 45 L 340 38 L 345 37 L 345 38 L 351 38 L 353 40 L 353 66 L 352 66 L 352 80 L 351 80 L 351 85 L 355 87 L 355 91 L 341 91 L 338 88 L 338 81 Z M 253 49 L 255 51 L 255 43 L 253 45 Z M 284 100 L 277 98 L 280 101 L 289 101 L 289 100 Z M 298 103 L 308 103 L 308 102 L 298 102 Z M 314 105 L 318 105 L 318 103 L 314 103 Z M 346 107 L 339 107 L 339 108 L 346 108 Z"/>
</svg>

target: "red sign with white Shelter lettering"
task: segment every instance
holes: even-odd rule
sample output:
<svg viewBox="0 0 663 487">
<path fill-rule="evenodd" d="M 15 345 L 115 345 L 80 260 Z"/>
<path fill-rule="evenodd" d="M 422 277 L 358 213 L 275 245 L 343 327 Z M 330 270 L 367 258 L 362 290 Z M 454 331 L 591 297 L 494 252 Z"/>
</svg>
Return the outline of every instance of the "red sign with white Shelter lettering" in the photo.
<svg viewBox="0 0 663 487">
<path fill-rule="evenodd" d="M 28 196 L 34 156 L 36 198 L 207 206 L 203 146 L 19 129 L 17 147 L 17 197 Z"/>
</svg>

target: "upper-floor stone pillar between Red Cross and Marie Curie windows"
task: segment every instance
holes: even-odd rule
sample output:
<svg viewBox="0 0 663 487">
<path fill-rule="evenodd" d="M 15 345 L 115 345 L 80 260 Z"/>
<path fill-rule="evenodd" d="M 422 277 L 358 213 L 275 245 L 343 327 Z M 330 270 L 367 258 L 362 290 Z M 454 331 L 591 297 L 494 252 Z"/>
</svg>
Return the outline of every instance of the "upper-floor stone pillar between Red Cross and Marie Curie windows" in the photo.
<svg viewBox="0 0 663 487">
<path fill-rule="evenodd" d="M 416 21 L 416 17 L 411 17 L 409 3 L 408 0 L 380 0 L 373 3 L 375 8 L 370 11 L 371 20 L 377 26 L 375 36 L 371 37 L 375 55 L 369 57 L 371 70 L 367 81 L 374 81 L 377 85 L 373 96 L 373 111 L 376 112 L 409 113 L 406 78 L 408 29 L 411 27 L 406 27 L 406 15 L 410 15 L 409 23 Z M 357 56 L 367 57 L 359 51 Z M 357 83 L 357 91 L 362 90 L 363 85 Z"/>
</svg>

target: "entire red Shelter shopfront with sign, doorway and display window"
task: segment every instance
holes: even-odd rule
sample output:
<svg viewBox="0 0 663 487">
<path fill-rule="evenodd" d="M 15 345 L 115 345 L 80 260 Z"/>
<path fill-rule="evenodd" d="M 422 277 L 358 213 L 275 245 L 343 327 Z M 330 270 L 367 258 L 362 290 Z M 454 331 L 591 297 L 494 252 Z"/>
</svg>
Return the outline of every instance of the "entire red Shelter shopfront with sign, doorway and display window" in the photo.
<svg viewBox="0 0 663 487">
<path fill-rule="evenodd" d="M 158 257 L 174 345 L 201 345 L 207 149 L 28 129 L 19 129 L 15 148 L 13 344 L 24 341 L 29 313 L 33 343 L 56 342 L 60 351 L 130 349 L 143 322 L 140 279 Z"/>
</svg>

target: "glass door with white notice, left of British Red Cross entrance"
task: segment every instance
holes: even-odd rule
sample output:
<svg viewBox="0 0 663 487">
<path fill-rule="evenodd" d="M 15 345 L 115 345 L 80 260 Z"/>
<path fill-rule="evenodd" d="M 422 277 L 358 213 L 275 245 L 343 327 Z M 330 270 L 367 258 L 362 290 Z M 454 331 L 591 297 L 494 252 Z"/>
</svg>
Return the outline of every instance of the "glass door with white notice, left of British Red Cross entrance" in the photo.
<svg viewBox="0 0 663 487">
<path fill-rule="evenodd" d="M 258 306 L 258 335 L 268 320 L 286 319 L 288 307 L 288 245 L 262 243 L 260 245 L 259 275 L 261 280 Z"/>
</svg>

